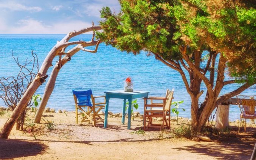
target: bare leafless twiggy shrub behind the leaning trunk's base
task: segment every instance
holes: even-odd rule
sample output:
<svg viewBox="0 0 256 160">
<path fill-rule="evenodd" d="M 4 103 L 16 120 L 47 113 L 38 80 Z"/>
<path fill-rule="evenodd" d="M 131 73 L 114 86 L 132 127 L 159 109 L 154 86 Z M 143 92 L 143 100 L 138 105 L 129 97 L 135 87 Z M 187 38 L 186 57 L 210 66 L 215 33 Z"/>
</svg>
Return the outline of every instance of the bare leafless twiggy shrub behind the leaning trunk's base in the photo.
<svg viewBox="0 0 256 160">
<path fill-rule="evenodd" d="M 3 94 L 0 95 L 0 98 L 3 99 L 5 105 L 11 108 L 12 111 L 16 108 L 26 88 L 28 88 L 32 80 L 36 77 L 36 73 L 38 72 L 37 55 L 33 53 L 33 50 L 31 53 L 33 60 L 28 61 L 28 59 L 26 59 L 24 64 L 21 64 L 18 58 L 13 57 L 14 61 L 20 68 L 17 76 L 10 76 L 8 78 L 2 77 L 0 79 L 0 90 L 3 91 Z M 26 112 L 33 105 L 31 102 L 32 101 L 30 99 L 26 105 L 26 109 L 22 112 L 22 114 L 20 114 L 16 122 L 16 130 L 23 130 Z"/>
</svg>

